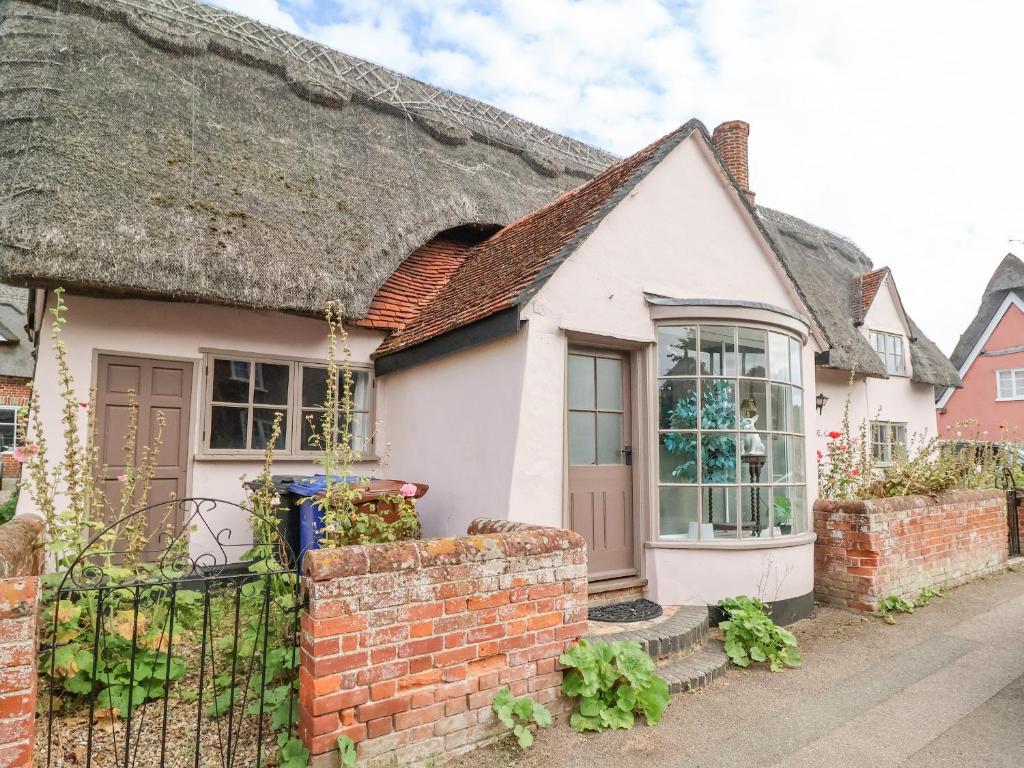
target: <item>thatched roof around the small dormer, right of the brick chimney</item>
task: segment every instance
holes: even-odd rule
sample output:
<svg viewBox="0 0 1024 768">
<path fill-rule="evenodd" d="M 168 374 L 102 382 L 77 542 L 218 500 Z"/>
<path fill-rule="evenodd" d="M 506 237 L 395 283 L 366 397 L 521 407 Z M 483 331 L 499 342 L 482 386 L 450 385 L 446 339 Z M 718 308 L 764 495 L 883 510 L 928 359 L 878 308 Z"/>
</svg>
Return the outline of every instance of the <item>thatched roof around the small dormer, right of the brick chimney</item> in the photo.
<svg viewBox="0 0 1024 768">
<path fill-rule="evenodd" d="M 757 211 L 829 343 L 830 348 L 819 356 L 818 365 L 886 376 L 879 355 L 856 325 L 865 311 L 864 279 L 874 271 L 871 260 L 841 234 L 764 206 L 758 206 Z M 871 283 L 878 276 L 867 280 Z M 959 376 L 949 359 L 909 316 L 907 324 L 912 334 L 912 380 L 942 387 L 959 386 Z"/>
</svg>

